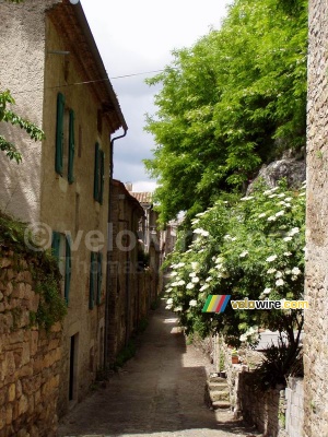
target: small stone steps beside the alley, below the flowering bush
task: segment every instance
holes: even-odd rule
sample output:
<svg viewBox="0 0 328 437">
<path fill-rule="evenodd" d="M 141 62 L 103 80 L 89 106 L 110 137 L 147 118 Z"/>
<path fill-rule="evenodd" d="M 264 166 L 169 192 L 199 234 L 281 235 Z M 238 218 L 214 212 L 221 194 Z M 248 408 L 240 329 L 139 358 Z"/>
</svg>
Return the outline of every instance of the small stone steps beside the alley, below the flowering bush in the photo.
<svg viewBox="0 0 328 437">
<path fill-rule="evenodd" d="M 204 392 L 206 404 L 212 410 L 230 410 L 230 390 L 225 378 L 210 374 Z"/>
</svg>

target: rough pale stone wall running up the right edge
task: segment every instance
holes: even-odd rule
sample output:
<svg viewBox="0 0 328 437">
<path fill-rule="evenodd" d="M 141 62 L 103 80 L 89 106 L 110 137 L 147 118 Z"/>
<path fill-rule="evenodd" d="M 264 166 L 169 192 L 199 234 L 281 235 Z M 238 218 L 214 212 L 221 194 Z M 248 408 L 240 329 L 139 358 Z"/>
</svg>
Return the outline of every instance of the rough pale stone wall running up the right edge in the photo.
<svg viewBox="0 0 328 437">
<path fill-rule="evenodd" d="M 328 4 L 309 1 L 304 437 L 328 435 Z"/>
</svg>

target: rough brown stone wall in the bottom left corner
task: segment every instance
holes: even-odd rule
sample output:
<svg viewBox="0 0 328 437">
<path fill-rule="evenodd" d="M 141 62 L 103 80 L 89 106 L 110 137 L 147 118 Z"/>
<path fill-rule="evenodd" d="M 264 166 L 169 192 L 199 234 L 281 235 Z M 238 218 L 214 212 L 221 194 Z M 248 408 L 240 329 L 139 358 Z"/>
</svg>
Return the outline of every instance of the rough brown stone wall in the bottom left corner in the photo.
<svg viewBox="0 0 328 437">
<path fill-rule="evenodd" d="M 0 437 L 51 437 L 57 427 L 61 327 L 30 327 L 39 297 L 26 262 L 0 252 Z"/>
</svg>

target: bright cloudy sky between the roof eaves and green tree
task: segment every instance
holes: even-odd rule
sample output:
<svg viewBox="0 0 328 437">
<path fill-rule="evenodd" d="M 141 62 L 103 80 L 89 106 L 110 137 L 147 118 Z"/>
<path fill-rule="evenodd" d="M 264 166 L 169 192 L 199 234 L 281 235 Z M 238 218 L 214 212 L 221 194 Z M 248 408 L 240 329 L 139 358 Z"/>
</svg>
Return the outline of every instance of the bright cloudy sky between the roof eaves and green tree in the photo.
<svg viewBox="0 0 328 437">
<path fill-rule="evenodd" d="M 114 177 L 152 190 L 142 160 L 151 157 L 154 141 L 143 131 L 145 114 L 154 114 L 156 88 L 144 84 L 148 73 L 171 63 L 172 50 L 191 47 L 219 28 L 232 0 L 81 0 L 107 74 L 129 127 L 115 142 Z M 145 74 L 139 74 L 145 73 Z M 120 133 L 120 132 L 117 132 Z"/>
</svg>

